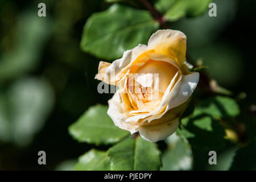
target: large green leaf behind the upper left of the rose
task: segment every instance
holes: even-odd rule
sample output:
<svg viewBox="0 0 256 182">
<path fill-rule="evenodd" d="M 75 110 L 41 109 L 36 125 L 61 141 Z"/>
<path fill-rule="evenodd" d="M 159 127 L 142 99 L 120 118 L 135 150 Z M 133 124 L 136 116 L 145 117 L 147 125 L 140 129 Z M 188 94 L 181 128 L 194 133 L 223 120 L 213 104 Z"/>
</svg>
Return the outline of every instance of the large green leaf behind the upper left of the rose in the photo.
<svg viewBox="0 0 256 182">
<path fill-rule="evenodd" d="M 112 60 L 138 44 L 146 44 L 159 24 L 150 13 L 114 4 L 94 13 L 85 24 L 81 48 L 85 52 Z"/>
</svg>

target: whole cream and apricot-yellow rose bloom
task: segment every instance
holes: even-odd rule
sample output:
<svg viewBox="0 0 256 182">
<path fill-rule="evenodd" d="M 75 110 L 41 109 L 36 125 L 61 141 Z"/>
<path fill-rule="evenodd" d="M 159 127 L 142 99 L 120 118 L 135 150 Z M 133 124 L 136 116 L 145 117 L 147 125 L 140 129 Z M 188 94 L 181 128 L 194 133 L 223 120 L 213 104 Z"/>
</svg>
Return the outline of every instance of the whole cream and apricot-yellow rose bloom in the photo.
<svg viewBox="0 0 256 182">
<path fill-rule="evenodd" d="M 100 62 L 96 78 L 119 87 L 108 109 L 116 126 L 150 142 L 176 131 L 199 81 L 185 65 L 186 39 L 180 31 L 158 30 L 148 46 L 139 44 L 112 64 Z"/>
</svg>

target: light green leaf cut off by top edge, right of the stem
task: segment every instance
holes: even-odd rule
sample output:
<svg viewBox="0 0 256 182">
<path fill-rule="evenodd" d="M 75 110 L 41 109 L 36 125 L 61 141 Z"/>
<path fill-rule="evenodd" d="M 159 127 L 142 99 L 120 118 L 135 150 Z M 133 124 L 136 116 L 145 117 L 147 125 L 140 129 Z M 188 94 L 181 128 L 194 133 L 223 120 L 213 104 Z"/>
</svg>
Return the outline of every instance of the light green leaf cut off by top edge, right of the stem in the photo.
<svg viewBox="0 0 256 182">
<path fill-rule="evenodd" d="M 208 8 L 210 0 L 159 0 L 155 8 L 168 21 L 176 21 L 184 16 L 198 16 Z"/>
</svg>

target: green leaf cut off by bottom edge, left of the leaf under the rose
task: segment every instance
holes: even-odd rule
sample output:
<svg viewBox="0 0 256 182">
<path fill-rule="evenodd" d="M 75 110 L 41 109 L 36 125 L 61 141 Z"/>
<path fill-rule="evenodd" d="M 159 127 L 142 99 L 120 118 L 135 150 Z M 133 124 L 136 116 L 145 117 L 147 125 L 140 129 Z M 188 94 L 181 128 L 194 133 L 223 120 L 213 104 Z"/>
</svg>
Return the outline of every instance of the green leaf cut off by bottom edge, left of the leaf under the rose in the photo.
<svg viewBox="0 0 256 182">
<path fill-rule="evenodd" d="M 109 171 L 109 158 L 105 151 L 92 149 L 79 157 L 75 171 Z"/>
</svg>

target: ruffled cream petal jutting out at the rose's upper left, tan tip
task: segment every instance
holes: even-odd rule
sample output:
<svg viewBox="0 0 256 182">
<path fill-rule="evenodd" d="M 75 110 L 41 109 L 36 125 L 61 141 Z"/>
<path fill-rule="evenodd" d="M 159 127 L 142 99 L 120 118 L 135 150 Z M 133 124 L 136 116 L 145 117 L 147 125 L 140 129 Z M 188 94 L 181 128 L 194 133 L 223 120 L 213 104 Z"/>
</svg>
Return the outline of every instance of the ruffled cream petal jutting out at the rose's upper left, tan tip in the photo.
<svg viewBox="0 0 256 182">
<path fill-rule="evenodd" d="M 117 85 L 117 82 L 126 74 L 127 68 L 133 61 L 147 50 L 147 46 L 139 44 L 137 47 L 125 51 L 123 57 L 113 61 L 112 64 L 101 61 L 95 78 L 108 84 Z"/>
</svg>

